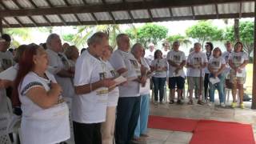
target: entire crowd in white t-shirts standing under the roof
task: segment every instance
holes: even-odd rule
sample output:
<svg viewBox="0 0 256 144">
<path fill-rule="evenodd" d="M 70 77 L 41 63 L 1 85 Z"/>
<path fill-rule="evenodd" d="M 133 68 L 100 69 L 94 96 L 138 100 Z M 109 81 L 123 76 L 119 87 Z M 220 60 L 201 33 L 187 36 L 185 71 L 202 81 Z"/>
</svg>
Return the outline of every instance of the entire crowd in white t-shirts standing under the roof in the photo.
<svg viewBox="0 0 256 144">
<path fill-rule="evenodd" d="M 219 78 L 219 82 L 210 84 L 210 102 L 214 102 L 214 90 L 217 89 L 222 105 L 225 70 L 230 71 L 230 82 L 233 83 L 232 106 L 236 106 L 237 88 L 242 99 L 248 58 L 242 51 L 241 42 L 234 45 L 234 51 L 228 48 L 227 42 L 228 52 L 224 53 L 224 58 L 222 51 L 218 47 L 213 50 L 212 45 L 210 55 L 202 53 L 200 43 L 194 44 L 194 51 L 186 58 L 179 50 L 179 42 L 173 43 L 172 50 L 168 43 L 164 43 L 163 51 L 154 51 L 154 45 L 150 45 L 149 51 L 140 43 L 130 46 L 127 34 L 118 34 L 116 42 L 118 48 L 113 50 L 108 36 L 97 32 L 87 40 L 88 48 L 79 56 L 77 47 L 62 46 L 58 34 L 50 34 L 45 49 L 34 43 L 19 46 L 13 62 L 9 56 L 2 56 L 6 55 L 10 41 L 5 36 L 0 38 L 3 69 L 0 75 L 12 74 L 11 79 L 1 78 L 0 88 L 3 94 L 11 95 L 14 107 L 21 107 L 22 143 L 63 143 L 70 137 L 76 144 L 141 141 L 148 137 L 150 81 L 154 84 L 155 104 L 158 92 L 162 103 L 163 86 L 168 76 L 170 104 L 174 103 L 176 90 L 177 103 L 182 104 L 182 90 L 187 78 L 188 103 L 193 104 L 195 89 L 198 104 L 202 105 L 206 68 L 209 79 Z M 116 79 L 121 77 L 126 81 L 118 83 Z M 8 87 L 13 89 L 10 95 L 5 91 Z M 244 108 L 242 101 L 240 107 Z"/>
</svg>

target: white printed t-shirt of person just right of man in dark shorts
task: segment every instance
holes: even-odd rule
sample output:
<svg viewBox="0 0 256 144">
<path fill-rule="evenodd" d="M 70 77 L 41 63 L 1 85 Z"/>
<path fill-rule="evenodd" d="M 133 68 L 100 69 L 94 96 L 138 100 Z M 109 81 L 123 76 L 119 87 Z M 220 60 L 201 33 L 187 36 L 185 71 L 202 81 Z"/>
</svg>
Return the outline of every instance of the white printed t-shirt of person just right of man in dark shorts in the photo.
<svg viewBox="0 0 256 144">
<path fill-rule="evenodd" d="M 207 61 L 206 54 L 203 52 L 191 52 L 186 60 L 187 63 L 190 63 L 190 65 L 193 65 L 195 67 L 199 67 L 200 64 L 203 64 Z M 192 68 L 190 67 L 190 70 L 187 74 L 188 77 L 200 77 L 200 69 L 198 68 Z M 204 70 L 202 70 L 202 77 L 204 77 Z"/>
</svg>

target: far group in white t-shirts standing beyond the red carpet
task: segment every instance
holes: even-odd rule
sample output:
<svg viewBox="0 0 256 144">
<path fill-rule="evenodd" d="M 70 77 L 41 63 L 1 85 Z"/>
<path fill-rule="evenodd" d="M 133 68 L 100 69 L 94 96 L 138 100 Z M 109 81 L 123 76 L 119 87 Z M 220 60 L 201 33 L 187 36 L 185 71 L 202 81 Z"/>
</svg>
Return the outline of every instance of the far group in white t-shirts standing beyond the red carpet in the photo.
<svg viewBox="0 0 256 144">
<path fill-rule="evenodd" d="M 226 51 L 222 53 L 219 47 L 213 46 L 212 42 L 206 42 L 206 52 L 202 52 L 200 43 L 194 43 L 194 48 L 186 58 L 184 52 L 179 50 L 180 43 L 174 42 L 169 52 L 163 52 L 168 43 L 163 43 L 164 49 L 155 50 L 150 44 L 146 50 L 146 59 L 150 62 L 151 71 L 154 72 L 152 82 L 154 86 L 154 104 L 162 103 L 164 86 L 166 81 L 170 88 L 169 103 L 174 103 L 175 91 L 178 92 L 177 104 L 183 104 L 182 93 L 184 92 L 185 80 L 187 79 L 189 101 L 192 105 L 193 94 L 198 98 L 198 104 L 208 103 L 214 105 L 214 91 L 218 90 L 220 106 L 225 105 L 225 91 L 227 87 L 232 89 L 233 102 L 231 106 L 237 106 L 237 90 L 240 99 L 239 107 L 243 104 L 243 84 L 246 82 L 246 64 L 249 62 L 248 55 L 243 51 L 242 42 L 236 42 L 234 50 L 230 42 L 226 42 Z M 166 57 L 163 55 L 166 53 Z M 186 67 L 186 74 L 183 68 Z M 210 98 L 208 98 L 210 97 Z M 209 100 L 208 100 L 209 99 Z"/>
</svg>

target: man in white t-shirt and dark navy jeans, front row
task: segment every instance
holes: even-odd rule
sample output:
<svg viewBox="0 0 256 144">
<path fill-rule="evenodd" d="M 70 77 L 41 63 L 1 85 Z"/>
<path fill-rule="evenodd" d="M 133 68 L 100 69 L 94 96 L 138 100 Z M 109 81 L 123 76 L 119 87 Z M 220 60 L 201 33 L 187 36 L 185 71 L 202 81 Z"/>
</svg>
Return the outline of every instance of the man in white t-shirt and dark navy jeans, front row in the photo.
<svg viewBox="0 0 256 144">
<path fill-rule="evenodd" d="M 110 63 L 118 74 L 127 78 L 138 78 L 140 64 L 130 54 L 130 38 L 127 34 L 118 34 L 118 50 L 115 50 L 110 58 Z M 127 144 L 134 137 L 134 130 L 138 122 L 140 111 L 140 94 L 138 79 L 130 80 L 119 86 L 119 99 L 117 107 L 117 120 L 115 140 L 117 144 Z"/>
</svg>

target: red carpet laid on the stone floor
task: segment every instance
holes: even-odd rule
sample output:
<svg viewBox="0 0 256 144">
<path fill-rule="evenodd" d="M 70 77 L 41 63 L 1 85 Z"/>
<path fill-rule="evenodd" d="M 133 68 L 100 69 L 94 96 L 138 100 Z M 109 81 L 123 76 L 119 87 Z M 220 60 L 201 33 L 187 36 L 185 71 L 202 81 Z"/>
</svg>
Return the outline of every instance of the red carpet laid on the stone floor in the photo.
<svg viewBox="0 0 256 144">
<path fill-rule="evenodd" d="M 190 144 L 255 144 L 250 125 L 186 118 L 151 116 L 149 128 L 193 132 Z"/>
</svg>

